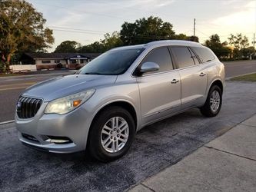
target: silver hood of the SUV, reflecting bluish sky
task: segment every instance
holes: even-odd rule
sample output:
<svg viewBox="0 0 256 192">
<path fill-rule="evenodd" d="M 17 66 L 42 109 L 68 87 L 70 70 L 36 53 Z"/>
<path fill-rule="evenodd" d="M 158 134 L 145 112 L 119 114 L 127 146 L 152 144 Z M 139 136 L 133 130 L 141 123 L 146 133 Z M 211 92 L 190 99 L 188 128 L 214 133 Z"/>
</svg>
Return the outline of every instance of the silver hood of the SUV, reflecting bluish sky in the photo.
<svg viewBox="0 0 256 192">
<path fill-rule="evenodd" d="M 52 78 L 32 85 L 22 94 L 32 98 L 52 101 L 70 94 L 86 91 L 105 84 L 114 84 L 117 75 L 73 74 Z"/>
</svg>

